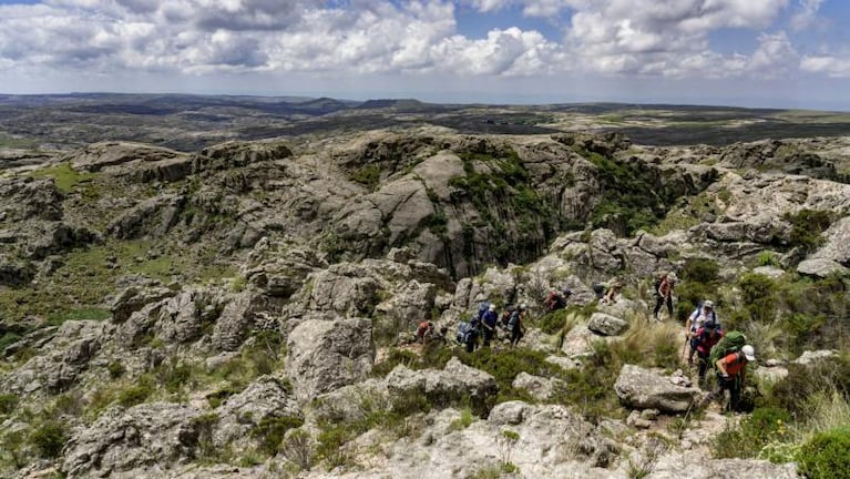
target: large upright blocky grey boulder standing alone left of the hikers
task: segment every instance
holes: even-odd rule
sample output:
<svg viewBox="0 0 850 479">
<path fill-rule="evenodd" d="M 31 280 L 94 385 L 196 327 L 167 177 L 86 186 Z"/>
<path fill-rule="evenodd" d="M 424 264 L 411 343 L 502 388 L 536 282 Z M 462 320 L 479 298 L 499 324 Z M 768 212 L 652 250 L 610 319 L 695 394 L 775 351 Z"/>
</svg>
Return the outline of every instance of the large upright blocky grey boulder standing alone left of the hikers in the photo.
<svg viewBox="0 0 850 479">
<path fill-rule="evenodd" d="M 375 361 L 371 320 L 306 320 L 289 333 L 287 351 L 295 396 L 308 402 L 369 375 Z"/>
</svg>

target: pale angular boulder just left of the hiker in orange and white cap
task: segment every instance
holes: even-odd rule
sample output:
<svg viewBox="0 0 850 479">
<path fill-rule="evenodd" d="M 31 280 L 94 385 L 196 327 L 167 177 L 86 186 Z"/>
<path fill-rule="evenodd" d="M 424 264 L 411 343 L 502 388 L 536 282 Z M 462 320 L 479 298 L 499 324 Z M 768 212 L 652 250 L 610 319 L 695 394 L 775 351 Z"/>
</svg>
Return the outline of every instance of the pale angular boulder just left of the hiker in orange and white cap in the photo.
<svg viewBox="0 0 850 479">
<path fill-rule="evenodd" d="M 682 378 L 664 376 L 639 366 L 624 365 L 614 389 L 621 402 L 633 409 L 686 412 L 701 395 L 699 388 L 679 386 Z"/>
</svg>

